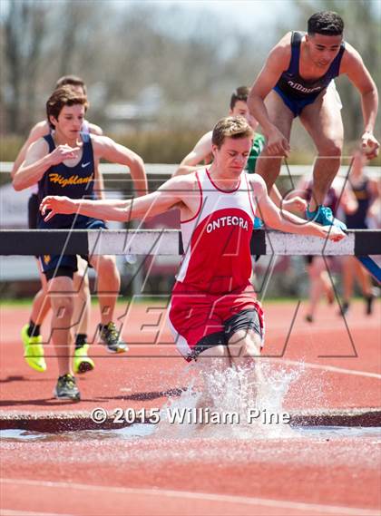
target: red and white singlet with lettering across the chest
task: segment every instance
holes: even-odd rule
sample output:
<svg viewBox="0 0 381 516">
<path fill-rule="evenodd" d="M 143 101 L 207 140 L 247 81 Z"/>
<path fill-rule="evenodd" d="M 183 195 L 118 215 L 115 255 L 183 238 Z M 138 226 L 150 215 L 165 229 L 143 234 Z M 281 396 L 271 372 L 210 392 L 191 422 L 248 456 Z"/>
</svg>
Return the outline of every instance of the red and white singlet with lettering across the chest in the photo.
<svg viewBox="0 0 381 516">
<path fill-rule="evenodd" d="M 236 190 L 220 190 L 208 170 L 196 172 L 200 208 L 181 220 L 184 257 L 177 281 L 221 296 L 249 285 L 250 239 L 255 210 L 245 173 Z"/>
</svg>

